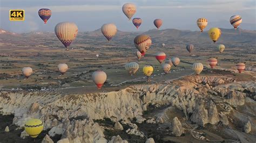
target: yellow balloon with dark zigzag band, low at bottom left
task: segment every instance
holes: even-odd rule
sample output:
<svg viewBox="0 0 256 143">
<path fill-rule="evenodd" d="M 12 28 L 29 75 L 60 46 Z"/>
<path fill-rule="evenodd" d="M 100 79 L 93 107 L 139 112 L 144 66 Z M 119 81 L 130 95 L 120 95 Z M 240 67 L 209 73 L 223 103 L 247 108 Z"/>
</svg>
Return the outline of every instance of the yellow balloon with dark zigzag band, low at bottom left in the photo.
<svg viewBox="0 0 256 143">
<path fill-rule="evenodd" d="M 36 138 L 44 129 L 43 121 L 39 119 L 30 119 L 24 125 L 26 133 L 32 138 Z"/>
</svg>

